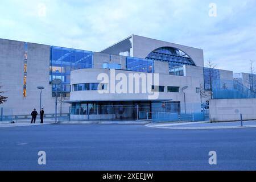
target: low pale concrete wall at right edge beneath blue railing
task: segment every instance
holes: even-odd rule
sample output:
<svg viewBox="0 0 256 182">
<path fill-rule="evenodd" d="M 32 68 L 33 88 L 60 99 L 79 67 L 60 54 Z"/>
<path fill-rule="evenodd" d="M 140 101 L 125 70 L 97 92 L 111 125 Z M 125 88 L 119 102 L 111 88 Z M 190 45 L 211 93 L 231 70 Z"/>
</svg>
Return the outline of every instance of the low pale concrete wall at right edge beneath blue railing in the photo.
<svg viewBox="0 0 256 182">
<path fill-rule="evenodd" d="M 236 114 L 236 110 L 239 113 Z M 238 121 L 240 113 L 243 119 L 256 119 L 256 99 L 210 100 L 210 121 Z"/>
</svg>

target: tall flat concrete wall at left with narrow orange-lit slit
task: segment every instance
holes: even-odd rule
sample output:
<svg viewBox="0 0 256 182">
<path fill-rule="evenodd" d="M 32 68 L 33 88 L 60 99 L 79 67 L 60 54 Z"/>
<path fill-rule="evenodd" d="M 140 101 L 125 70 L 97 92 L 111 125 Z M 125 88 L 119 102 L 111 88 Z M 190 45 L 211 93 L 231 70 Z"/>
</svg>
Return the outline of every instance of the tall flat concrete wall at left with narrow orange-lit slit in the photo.
<svg viewBox="0 0 256 182">
<path fill-rule="evenodd" d="M 24 42 L 0 39 L 0 85 L 9 97 L 0 107 L 13 108 L 14 115 L 29 115 L 32 109 L 39 110 L 37 86 L 44 86 L 42 107 L 46 114 L 55 113 L 55 99 L 49 85 L 49 50 L 49 46 L 28 43 L 27 97 L 23 97 Z M 69 104 L 63 104 L 63 113 L 68 111 Z"/>
</svg>

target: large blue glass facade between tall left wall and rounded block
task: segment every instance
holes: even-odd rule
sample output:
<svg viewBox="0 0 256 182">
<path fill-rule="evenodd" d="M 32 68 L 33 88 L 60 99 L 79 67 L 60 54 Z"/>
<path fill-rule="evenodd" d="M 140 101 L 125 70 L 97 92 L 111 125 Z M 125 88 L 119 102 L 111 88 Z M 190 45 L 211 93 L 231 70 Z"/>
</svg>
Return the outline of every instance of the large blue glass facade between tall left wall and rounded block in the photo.
<svg viewBox="0 0 256 182">
<path fill-rule="evenodd" d="M 62 81 L 61 85 L 52 85 L 53 96 L 55 90 L 63 93 L 64 97 L 71 92 L 71 71 L 93 67 L 93 53 L 78 49 L 51 47 L 49 83 L 58 78 Z"/>
</svg>

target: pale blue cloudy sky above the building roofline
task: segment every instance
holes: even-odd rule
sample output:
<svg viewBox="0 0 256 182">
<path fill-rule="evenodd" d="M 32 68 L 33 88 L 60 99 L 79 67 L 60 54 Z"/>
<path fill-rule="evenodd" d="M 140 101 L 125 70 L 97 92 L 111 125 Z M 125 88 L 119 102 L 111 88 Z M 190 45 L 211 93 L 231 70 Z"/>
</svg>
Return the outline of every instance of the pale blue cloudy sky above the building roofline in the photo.
<svg viewBox="0 0 256 182">
<path fill-rule="evenodd" d="M 0 38 L 99 52 L 135 34 L 204 49 L 218 69 L 256 72 L 255 0 L 1 0 Z"/>
</svg>

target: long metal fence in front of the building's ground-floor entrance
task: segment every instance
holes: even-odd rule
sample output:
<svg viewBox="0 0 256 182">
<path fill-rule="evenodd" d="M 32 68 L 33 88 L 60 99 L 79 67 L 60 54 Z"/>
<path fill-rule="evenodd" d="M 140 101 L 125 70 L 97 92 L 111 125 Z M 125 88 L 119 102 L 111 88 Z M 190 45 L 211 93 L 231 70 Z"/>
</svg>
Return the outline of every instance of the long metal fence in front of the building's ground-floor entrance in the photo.
<svg viewBox="0 0 256 182">
<path fill-rule="evenodd" d="M 58 119 L 59 122 L 67 118 Z M 205 121 L 201 104 L 158 102 L 151 105 L 93 105 L 70 107 L 69 121 Z"/>
</svg>

